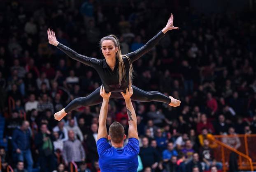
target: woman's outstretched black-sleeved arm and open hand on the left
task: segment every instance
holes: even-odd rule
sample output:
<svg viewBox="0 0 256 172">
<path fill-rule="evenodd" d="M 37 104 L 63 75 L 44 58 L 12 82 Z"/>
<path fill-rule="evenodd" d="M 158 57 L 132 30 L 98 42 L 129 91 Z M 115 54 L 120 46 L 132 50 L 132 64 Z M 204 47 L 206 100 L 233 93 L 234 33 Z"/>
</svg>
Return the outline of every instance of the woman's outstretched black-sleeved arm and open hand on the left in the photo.
<svg viewBox="0 0 256 172">
<path fill-rule="evenodd" d="M 76 51 L 72 50 L 71 48 L 59 43 L 56 39 L 55 32 L 47 30 L 49 44 L 56 46 L 58 49 L 63 51 L 66 55 L 71 57 L 74 60 L 77 60 L 85 65 L 93 67 L 94 65 L 100 64 L 100 60 L 96 58 L 87 57 L 85 55 L 78 54 Z"/>
</svg>

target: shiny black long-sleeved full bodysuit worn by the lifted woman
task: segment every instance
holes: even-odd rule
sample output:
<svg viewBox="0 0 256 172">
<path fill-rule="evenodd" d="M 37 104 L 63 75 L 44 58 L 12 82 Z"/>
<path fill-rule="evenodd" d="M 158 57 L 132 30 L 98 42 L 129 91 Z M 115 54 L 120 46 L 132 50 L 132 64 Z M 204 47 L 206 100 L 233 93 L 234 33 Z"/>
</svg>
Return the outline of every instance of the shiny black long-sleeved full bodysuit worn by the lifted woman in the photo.
<svg viewBox="0 0 256 172">
<path fill-rule="evenodd" d="M 128 53 L 127 56 L 130 58 L 131 62 L 142 57 L 145 53 L 149 52 L 157 43 L 158 41 L 164 36 L 165 34 L 160 31 L 156 34 L 155 37 L 150 39 L 144 46 L 135 50 L 132 53 Z M 59 43 L 57 46 L 60 50 L 62 50 L 65 54 L 71 57 L 74 60 L 77 60 L 83 64 L 93 67 L 99 74 L 100 79 L 102 81 L 102 85 L 105 88 L 106 92 L 112 92 L 111 98 L 122 98 L 120 92 L 125 92 L 126 88 L 129 85 L 129 69 L 130 69 L 130 62 L 126 57 L 123 57 L 123 62 L 125 64 L 126 70 L 126 79 L 122 81 L 121 85 L 119 85 L 119 73 L 118 73 L 118 59 L 116 59 L 116 65 L 114 67 L 114 71 L 110 69 L 106 60 L 100 60 L 97 58 L 87 57 L 85 55 L 78 54 L 71 48 Z M 100 96 L 100 88 L 96 89 L 93 93 L 88 95 L 87 97 L 81 97 L 74 99 L 71 101 L 66 107 L 65 112 L 70 112 L 75 108 L 84 105 L 96 105 L 102 102 L 102 97 Z M 135 101 L 160 101 L 163 103 L 170 103 L 171 100 L 168 96 L 160 92 L 145 92 L 142 89 L 139 89 L 133 86 L 133 95 L 131 97 L 132 100 Z"/>
</svg>

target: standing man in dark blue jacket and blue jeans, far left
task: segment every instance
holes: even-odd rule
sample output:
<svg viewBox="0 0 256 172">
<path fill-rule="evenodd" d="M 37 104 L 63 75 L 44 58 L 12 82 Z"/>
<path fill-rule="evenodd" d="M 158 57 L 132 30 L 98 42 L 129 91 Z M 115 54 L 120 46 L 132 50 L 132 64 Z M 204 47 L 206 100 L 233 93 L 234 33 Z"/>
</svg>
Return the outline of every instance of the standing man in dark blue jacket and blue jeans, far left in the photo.
<svg viewBox="0 0 256 172">
<path fill-rule="evenodd" d="M 17 161 L 24 162 L 24 160 L 26 160 L 28 172 L 32 172 L 33 167 L 33 159 L 30 151 L 30 140 L 31 132 L 29 130 L 29 122 L 23 121 L 20 128 L 17 128 L 13 132 L 12 145 Z"/>
</svg>

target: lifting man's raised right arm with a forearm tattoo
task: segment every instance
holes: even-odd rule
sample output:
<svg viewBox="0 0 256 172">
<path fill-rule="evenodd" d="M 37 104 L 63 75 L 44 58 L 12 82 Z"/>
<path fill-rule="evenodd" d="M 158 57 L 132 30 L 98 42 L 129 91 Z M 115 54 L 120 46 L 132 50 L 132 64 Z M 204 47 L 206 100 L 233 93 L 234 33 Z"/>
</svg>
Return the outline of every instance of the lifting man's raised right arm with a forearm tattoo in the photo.
<svg viewBox="0 0 256 172">
<path fill-rule="evenodd" d="M 129 85 L 129 90 L 126 89 L 126 93 L 121 92 L 123 98 L 126 102 L 127 115 L 128 115 L 128 138 L 136 138 L 139 139 L 138 131 L 137 131 L 137 117 L 135 114 L 135 110 L 133 108 L 132 101 L 130 97 L 133 95 L 133 88 Z"/>
</svg>

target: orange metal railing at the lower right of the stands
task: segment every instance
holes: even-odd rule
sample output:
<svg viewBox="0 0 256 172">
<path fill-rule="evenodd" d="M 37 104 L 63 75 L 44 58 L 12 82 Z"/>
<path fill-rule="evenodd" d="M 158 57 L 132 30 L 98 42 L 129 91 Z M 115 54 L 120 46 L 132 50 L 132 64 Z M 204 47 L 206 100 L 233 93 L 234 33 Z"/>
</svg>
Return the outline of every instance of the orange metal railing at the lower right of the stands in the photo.
<svg viewBox="0 0 256 172">
<path fill-rule="evenodd" d="M 214 142 L 219 146 L 214 149 L 215 158 L 223 163 L 223 171 L 228 170 L 231 152 L 238 155 L 237 165 L 240 170 L 254 170 L 256 168 L 256 149 L 253 144 L 256 134 L 251 135 L 214 135 Z M 227 140 L 231 140 L 228 142 Z M 233 145 L 228 145 L 233 143 Z M 236 149 L 235 149 L 236 148 Z"/>
</svg>

